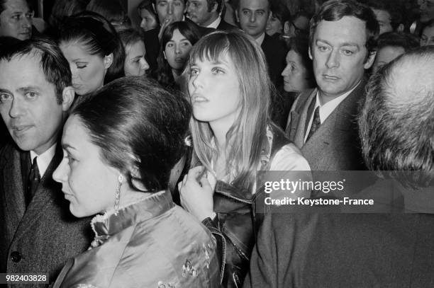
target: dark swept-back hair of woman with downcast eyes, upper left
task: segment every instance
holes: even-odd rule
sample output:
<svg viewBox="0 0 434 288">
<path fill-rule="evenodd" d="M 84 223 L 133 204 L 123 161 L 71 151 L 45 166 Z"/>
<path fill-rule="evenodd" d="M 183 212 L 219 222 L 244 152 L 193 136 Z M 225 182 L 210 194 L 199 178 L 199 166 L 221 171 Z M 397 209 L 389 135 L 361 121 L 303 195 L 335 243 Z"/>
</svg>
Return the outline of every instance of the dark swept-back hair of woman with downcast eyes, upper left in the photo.
<svg viewBox="0 0 434 288">
<path fill-rule="evenodd" d="M 102 58 L 113 53 L 113 63 L 107 69 L 104 84 L 124 76 L 122 42 L 113 25 L 98 13 L 85 11 L 66 18 L 57 42 L 79 42 L 89 54 Z"/>
</svg>

